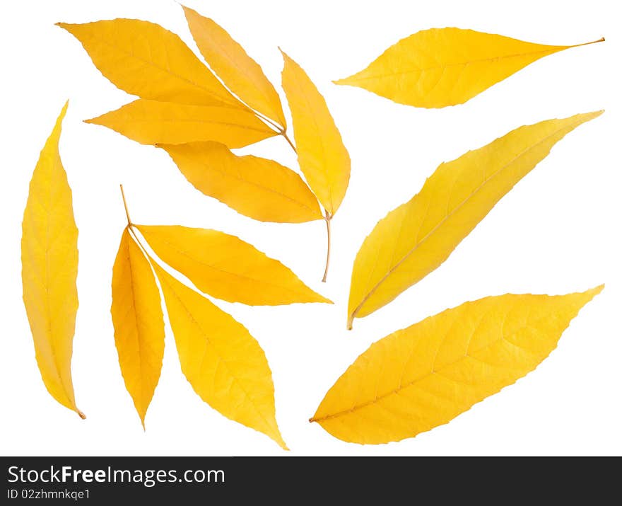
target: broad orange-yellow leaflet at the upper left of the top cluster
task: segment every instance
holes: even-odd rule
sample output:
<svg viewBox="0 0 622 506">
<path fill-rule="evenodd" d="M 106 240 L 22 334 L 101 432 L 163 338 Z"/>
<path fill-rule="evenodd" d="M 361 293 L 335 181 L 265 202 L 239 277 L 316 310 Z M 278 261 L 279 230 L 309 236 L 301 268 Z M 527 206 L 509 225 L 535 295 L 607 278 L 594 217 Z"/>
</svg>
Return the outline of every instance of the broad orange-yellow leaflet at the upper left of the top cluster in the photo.
<svg viewBox="0 0 622 506">
<path fill-rule="evenodd" d="M 57 23 L 112 84 L 150 100 L 243 107 L 175 33 L 137 19 Z"/>
</svg>

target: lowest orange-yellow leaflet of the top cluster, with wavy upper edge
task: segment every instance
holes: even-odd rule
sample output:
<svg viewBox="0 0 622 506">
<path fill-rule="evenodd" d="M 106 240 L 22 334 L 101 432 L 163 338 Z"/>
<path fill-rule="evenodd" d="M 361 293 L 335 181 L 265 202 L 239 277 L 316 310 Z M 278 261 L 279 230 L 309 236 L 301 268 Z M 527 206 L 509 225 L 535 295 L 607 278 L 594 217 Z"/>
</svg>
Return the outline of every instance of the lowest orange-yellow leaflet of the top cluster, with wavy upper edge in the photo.
<svg viewBox="0 0 622 506">
<path fill-rule="evenodd" d="M 262 222 L 322 219 L 315 195 L 302 178 L 276 161 L 235 156 L 217 142 L 160 145 L 194 188 Z"/>
</svg>

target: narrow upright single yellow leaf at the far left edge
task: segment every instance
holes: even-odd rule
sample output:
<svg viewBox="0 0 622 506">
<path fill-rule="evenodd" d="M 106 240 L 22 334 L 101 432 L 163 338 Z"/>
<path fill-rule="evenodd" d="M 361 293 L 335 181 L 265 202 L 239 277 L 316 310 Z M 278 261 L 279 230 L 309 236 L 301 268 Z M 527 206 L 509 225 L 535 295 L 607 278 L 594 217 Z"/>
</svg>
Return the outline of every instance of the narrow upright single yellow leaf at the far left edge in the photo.
<svg viewBox="0 0 622 506">
<path fill-rule="evenodd" d="M 66 110 L 67 104 L 30 180 L 22 223 L 22 284 L 43 383 L 59 403 L 85 418 L 76 407 L 71 381 L 78 311 L 78 229 L 58 147 Z"/>
</svg>

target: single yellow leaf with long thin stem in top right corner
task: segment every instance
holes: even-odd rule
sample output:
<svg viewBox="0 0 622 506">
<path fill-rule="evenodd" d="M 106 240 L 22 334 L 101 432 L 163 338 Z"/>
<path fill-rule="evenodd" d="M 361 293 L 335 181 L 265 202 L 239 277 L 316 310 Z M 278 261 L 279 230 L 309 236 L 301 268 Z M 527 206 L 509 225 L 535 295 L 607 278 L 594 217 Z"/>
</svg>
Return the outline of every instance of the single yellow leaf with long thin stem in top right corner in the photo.
<svg viewBox="0 0 622 506">
<path fill-rule="evenodd" d="M 474 30 L 430 28 L 400 40 L 366 69 L 335 83 L 365 88 L 397 103 L 442 108 L 466 102 L 541 57 L 581 45 L 542 45 Z"/>
</svg>

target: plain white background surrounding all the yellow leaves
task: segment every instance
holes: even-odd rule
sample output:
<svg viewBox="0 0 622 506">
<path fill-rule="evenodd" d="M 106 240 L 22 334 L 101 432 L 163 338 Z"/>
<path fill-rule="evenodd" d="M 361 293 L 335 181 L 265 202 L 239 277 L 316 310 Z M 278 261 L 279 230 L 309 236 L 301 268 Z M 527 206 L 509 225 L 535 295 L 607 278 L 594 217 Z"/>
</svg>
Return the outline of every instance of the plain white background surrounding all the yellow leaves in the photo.
<svg viewBox="0 0 622 506">
<path fill-rule="evenodd" d="M 351 183 L 333 220 L 329 282 L 319 279 L 324 223 L 262 224 L 194 190 L 168 156 L 82 122 L 131 100 L 93 67 L 57 21 L 141 18 L 194 42 L 175 1 L 3 2 L 2 336 L 0 452 L 5 455 L 287 455 L 201 401 L 182 376 L 167 327 L 165 360 L 143 432 L 124 389 L 110 320 L 110 277 L 125 225 L 215 228 L 290 266 L 336 304 L 218 305 L 266 351 L 276 411 L 294 455 L 622 454 L 620 312 L 621 100 L 614 1 L 199 1 L 275 84 L 288 52 L 327 98 L 351 154 Z M 418 30 L 458 26 L 549 44 L 589 45 L 541 59 L 465 105 L 423 110 L 331 80 L 358 71 Z M 280 90 L 280 87 L 278 87 Z M 282 95 L 282 93 L 281 93 Z M 28 182 L 66 98 L 61 156 L 80 229 L 73 375 L 83 421 L 42 384 L 21 301 L 20 234 Z M 283 98 L 284 100 L 284 98 Z M 442 161 L 520 125 L 606 109 L 559 142 L 503 197 L 438 270 L 345 330 L 356 251 L 378 219 L 418 192 Z M 295 167 L 283 139 L 245 149 Z M 430 314 L 491 294 L 563 294 L 605 282 L 556 351 L 532 374 L 448 425 L 414 439 L 359 446 L 307 422 L 324 393 L 370 343 Z"/>
</svg>

